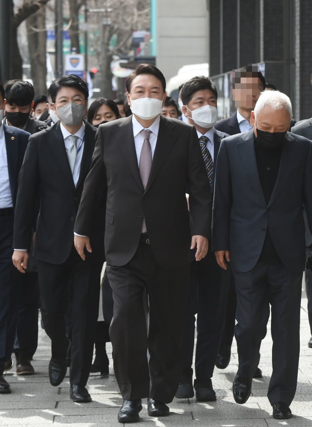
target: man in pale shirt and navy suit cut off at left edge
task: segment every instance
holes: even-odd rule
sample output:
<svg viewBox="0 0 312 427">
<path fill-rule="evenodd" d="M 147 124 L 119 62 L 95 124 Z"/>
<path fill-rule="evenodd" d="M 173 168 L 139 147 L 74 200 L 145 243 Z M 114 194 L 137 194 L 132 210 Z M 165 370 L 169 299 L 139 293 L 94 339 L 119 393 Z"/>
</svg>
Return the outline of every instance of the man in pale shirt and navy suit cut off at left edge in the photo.
<svg viewBox="0 0 312 427">
<path fill-rule="evenodd" d="M 2 124 L 3 101 L 4 89 L 0 85 L 0 393 L 10 393 L 3 371 L 13 350 L 21 284 L 11 260 L 13 217 L 29 133 Z"/>
</svg>

